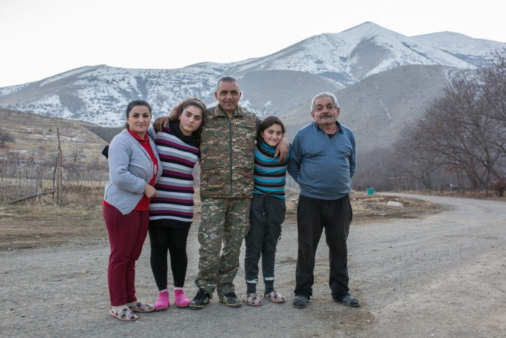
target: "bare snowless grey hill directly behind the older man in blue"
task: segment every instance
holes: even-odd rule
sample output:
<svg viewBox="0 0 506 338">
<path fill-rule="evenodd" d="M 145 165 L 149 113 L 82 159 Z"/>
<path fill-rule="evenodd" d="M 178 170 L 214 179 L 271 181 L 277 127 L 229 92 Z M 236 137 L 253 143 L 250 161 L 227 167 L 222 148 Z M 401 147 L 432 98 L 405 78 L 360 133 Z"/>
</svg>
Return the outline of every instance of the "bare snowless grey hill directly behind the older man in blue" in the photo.
<svg viewBox="0 0 506 338">
<path fill-rule="evenodd" d="M 341 107 L 339 121 L 355 132 L 361 152 L 389 146 L 404 124 L 417 120 L 431 100 L 441 94 L 452 71 L 455 70 L 442 66 L 413 65 L 374 74 L 335 92 Z M 308 100 L 281 114 L 288 139 L 313 122 L 310 105 Z"/>
</svg>

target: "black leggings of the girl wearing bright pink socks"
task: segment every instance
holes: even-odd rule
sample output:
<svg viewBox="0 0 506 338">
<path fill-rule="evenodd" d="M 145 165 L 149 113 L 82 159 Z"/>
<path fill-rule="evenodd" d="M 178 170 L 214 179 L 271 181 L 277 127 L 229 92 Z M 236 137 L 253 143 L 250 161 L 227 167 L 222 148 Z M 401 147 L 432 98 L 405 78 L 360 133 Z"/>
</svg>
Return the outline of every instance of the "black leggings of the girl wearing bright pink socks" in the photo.
<svg viewBox="0 0 506 338">
<path fill-rule="evenodd" d="M 174 286 L 185 285 L 186 267 L 186 239 L 189 229 L 175 229 L 167 227 L 149 227 L 151 241 L 151 270 L 158 290 L 167 288 L 167 249 L 171 254 L 171 270 Z"/>
</svg>

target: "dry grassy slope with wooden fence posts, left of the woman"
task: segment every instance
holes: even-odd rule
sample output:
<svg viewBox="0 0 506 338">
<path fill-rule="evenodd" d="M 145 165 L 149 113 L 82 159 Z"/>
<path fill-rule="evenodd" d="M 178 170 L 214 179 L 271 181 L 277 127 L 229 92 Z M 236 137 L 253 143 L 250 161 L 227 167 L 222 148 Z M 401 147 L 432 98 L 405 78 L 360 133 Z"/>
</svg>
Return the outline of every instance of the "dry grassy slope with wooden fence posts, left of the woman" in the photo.
<svg viewBox="0 0 506 338">
<path fill-rule="evenodd" d="M 2 108 L 0 119 L 0 128 L 15 138 L 14 143 L 0 147 L 0 203 L 51 189 L 58 149 L 57 128 L 63 179 L 98 184 L 104 177 L 107 179 L 107 161 L 101 154 L 106 142 L 92 132 L 100 129 L 104 134 L 104 128 Z"/>
</svg>

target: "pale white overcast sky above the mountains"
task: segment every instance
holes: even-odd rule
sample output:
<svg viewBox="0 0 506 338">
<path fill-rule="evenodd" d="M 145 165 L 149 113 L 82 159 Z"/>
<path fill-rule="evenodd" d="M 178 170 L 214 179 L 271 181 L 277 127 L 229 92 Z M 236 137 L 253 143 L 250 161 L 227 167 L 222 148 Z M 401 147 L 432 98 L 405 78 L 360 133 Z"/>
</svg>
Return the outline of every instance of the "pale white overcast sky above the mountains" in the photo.
<svg viewBox="0 0 506 338">
<path fill-rule="evenodd" d="M 412 36 L 506 42 L 506 2 L 479 0 L 0 0 L 0 87 L 86 65 L 179 68 L 265 56 L 372 21 Z"/>
</svg>

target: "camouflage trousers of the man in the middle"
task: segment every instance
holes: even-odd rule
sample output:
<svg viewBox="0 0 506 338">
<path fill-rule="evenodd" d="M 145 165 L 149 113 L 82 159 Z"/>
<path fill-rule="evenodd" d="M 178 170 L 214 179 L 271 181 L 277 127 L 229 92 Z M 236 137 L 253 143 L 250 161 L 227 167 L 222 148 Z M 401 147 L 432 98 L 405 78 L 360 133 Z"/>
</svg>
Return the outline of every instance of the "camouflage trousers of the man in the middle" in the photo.
<svg viewBox="0 0 506 338">
<path fill-rule="evenodd" d="M 250 198 L 202 198 L 195 284 L 210 297 L 215 289 L 219 297 L 234 290 L 241 244 L 249 230 L 250 204 Z"/>
</svg>

